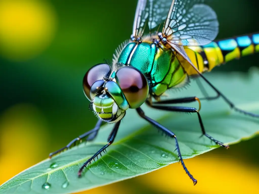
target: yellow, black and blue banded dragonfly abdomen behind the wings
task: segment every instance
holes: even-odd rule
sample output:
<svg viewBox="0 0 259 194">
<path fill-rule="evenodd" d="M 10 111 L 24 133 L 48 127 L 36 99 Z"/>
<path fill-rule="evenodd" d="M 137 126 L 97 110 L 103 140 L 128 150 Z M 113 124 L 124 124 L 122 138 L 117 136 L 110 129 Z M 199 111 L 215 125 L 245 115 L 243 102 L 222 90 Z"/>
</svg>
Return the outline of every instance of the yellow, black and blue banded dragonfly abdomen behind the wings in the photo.
<svg viewBox="0 0 259 194">
<path fill-rule="evenodd" d="M 184 48 L 200 72 L 211 71 L 215 66 L 259 52 L 259 34 L 243 35 L 218 40 L 204 46 Z M 188 67 L 188 64 L 184 63 L 184 66 L 188 75 L 197 74 L 191 66 Z"/>
</svg>

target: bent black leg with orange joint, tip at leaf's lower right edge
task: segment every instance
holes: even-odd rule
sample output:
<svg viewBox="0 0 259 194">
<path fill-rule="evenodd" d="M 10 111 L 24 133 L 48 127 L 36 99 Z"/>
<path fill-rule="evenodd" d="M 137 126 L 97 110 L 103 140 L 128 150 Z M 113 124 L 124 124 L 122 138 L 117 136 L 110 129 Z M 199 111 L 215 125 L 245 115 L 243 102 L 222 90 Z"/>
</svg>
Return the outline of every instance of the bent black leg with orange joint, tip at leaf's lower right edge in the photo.
<svg viewBox="0 0 259 194">
<path fill-rule="evenodd" d="M 146 101 L 147 104 L 155 109 L 160 109 L 160 110 L 168 110 L 168 111 L 175 111 L 175 112 L 185 112 L 185 113 L 197 113 L 199 123 L 200 123 L 200 128 L 202 129 L 202 134 L 205 135 L 207 138 L 209 138 L 211 141 L 214 141 L 216 144 L 229 148 L 229 145 L 224 145 L 222 142 L 214 139 L 210 135 L 208 135 L 205 131 L 203 122 L 202 122 L 202 117 L 200 116 L 199 110 L 196 108 L 191 108 L 191 107 L 180 107 L 180 106 L 158 106 L 157 104 L 176 104 L 176 103 L 188 103 L 188 102 L 194 102 L 198 101 L 199 102 L 199 109 L 200 109 L 200 100 L 197 97 L 189 97 L 189 98 L 179 98 L 179 99 L 172 99 L 172 100 L 162 100 L 158 102 L 154 102 L 154 105 L 152 105 L 149 101 Z"/>
</svg>

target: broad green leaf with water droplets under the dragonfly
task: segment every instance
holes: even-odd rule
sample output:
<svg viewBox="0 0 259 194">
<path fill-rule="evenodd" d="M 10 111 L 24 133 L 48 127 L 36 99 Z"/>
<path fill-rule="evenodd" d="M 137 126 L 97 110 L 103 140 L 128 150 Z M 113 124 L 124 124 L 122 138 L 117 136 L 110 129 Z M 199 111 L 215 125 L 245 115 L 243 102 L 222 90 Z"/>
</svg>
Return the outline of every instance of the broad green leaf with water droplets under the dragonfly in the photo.
<svg viewBox="0 0 259 194">
<path fill-rule="evenodd" d="M 206 74 L 206 77 L 237 107 L 259 113 L 257 69 L 252 69 L 249 76 L 228 73 Z M 206 89 L 211 95 L 215 95 L 211 89 Z M 171 98 L 202 97 L 195 81 L 192 81 L 188 90 L 177 93 L 173 91 L 168 92 Z M 198 103 L 187 106 L 198 107 Z M 142 107 L 147 116 L 176 134 L 184 159 L 219 147 L 206 137 L 199 138 L 201 130 L 196 114 L 158 111 L 145 105 Z M 234 144 L 258 135 L 259 119 L 232 111 L 222 99 L 202 101 L 200 113 L 207 133 L 224 143 Z M 178 162 L 177 153 L 174 152 L 175 140 L 159 135 L 157 129 L 131 109 L 127 110 L 117 137 L 107 153 L 92 162 L 84 170 L 82 177 L 78 178 L 78 169 L 107 143 L 112 127 L 113 124 L 104 125 L 94 141 L 81 143 L 16 175 L 0 186 L 1 193 L 72 193 L 142 175 Z M 71 129 L 66 129 L 69 130 Z M 192 169 L 189 171 L 192 172 Z M 182 173 L 185 173 L 184 170 Z M 172 182 L 176 178 L 172 175 Z M 187 175 L 183 181 L 190 181 Z"/>
</svg>

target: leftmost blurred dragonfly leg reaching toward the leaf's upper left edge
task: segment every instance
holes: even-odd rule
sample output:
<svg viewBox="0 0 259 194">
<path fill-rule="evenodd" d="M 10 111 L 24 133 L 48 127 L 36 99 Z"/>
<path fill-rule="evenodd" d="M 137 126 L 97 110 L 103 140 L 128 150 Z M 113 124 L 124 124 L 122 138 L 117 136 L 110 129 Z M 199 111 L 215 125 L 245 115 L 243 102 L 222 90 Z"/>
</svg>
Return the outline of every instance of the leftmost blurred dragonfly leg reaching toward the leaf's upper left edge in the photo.
<svg viewBox="0 0 259 194">
<path fill-rule="evenodd" d="M 95 128 L 93 128 L 92 130 L 87 131 L 84 134 L 80 135 L 79 137 L 73 139 L 65 147 L 62 147 L 61 149 L 50 153 L 49 158 L 52 158 L 54 155 L 59 154 L 60 152 L 62 152 L 64 150 L 68 150 L 71 146 L 75 146 L 77 141 L 81 141 L 83 138 L 85 138 L 87 136 L 88 136 L 88 138 L 86 140 L 91 141 L 92 139 L 94 139 L 96 137 L 96 135 L 98 133 L 98 130 L 100 129 L 101 124 L 102 124 L 102 120 L 98 120 L 98 122 L 95 125 Z"/>
</svg>

